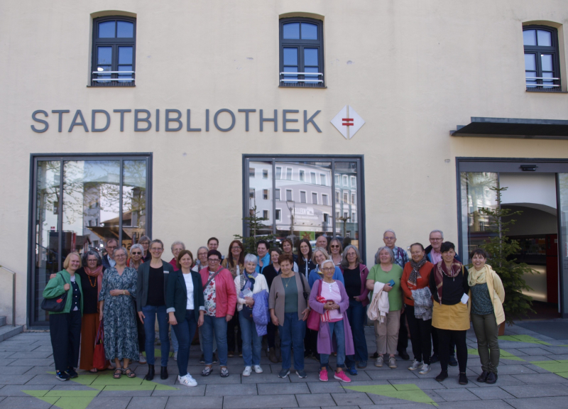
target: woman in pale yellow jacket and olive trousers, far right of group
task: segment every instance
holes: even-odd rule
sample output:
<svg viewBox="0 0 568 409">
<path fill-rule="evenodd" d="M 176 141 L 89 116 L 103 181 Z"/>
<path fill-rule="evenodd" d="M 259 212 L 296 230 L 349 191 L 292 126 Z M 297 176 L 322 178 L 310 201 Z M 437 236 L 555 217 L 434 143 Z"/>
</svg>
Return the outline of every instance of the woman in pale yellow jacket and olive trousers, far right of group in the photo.
<svg viewBox="0 0 568 409">
<path fill-rule="evenodd" d="M 471 253 L 469 288 L 471 290 L 471 322 L 477 337 L 477 351 L 483 372 L 478 382 L 496 383 L 499 365 L 499 325 L 505 321 L 503 301 L 505 289 L 501 278 L 486 264 L 487 253 L 476 249 Z"/>
</svg>

